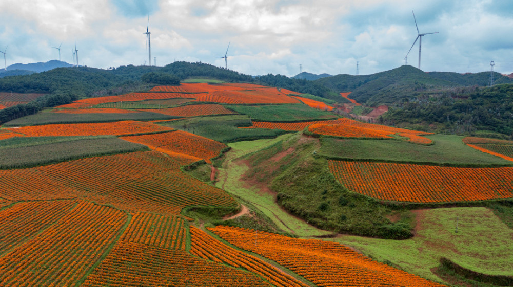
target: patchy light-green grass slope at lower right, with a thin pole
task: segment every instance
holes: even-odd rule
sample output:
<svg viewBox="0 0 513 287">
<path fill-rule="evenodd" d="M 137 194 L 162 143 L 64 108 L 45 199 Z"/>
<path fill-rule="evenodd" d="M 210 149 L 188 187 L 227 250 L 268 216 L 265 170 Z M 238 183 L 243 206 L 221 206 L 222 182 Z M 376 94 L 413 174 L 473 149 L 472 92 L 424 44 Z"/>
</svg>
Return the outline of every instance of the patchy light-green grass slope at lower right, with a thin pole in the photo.
<svg viewBox="0 0 513 287">
<path fill-rule="evenodd" d="M 445 256 L 489 275 L 513 275 L 513 230 L 484 207 L 420 210 L 418 232 L 406 240 L 341 235 L 329 240 L 354 247 L 374 259 L 389 260 L 405 271 L 440 281 L 430 269 Z M 458 217 L 458 233 L 456 229 Z"/>
</svg>

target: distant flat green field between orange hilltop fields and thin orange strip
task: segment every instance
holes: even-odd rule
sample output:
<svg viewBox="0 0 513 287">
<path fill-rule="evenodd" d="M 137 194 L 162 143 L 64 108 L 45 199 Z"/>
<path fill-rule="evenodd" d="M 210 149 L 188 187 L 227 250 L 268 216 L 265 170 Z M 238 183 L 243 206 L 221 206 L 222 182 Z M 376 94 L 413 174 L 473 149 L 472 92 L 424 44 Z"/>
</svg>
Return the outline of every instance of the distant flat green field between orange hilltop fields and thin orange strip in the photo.
<svg viewBox="0 0 513 287">
<path fill-rule="evenodd" d="M 338 118 L 336 114 L 320 111 L 305 104 L 225 105 L 225 107 L 239 114 L 248 115 L 253 121 L 263 122 L 300 122 Z"/>
</svg>

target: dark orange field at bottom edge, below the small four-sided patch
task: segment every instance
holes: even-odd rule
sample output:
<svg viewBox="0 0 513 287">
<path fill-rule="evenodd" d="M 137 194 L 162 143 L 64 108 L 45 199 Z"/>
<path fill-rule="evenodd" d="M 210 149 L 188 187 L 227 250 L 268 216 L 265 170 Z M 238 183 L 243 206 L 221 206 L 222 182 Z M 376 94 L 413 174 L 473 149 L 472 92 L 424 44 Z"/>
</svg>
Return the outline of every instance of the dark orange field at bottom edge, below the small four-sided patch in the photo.
<svg viewBox="0 0 513 287">
<path fill-rule="evenodd" d="M 185 251 L 117 242 L 83 287 L 268 286 L 262 278 Z"/>
</svg>

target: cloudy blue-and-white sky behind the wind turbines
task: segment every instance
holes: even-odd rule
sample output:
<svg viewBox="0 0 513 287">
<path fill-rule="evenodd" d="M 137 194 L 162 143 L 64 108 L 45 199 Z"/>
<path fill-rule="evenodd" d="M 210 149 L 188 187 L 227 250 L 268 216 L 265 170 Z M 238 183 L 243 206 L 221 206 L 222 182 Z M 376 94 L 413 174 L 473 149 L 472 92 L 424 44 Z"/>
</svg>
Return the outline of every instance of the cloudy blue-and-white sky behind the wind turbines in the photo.
<svg viewBox="0 0 513 287">
<path fill-rule="evenodd" d="M 426 72 L 513 73 L 510 0 L 1 0 L 7 65 L 58 59 L 108 69 L 203 62 L 249 74 L 391 70 L 422 37 Z M 0 54 L 2 57 L 2 54 Z M 406 58 L 418 67 L 419 41 Z M 357 65 L 358 63 L 358 65 Z M 3 68 L 3 65 L 2 65 Z"/>
</svg>

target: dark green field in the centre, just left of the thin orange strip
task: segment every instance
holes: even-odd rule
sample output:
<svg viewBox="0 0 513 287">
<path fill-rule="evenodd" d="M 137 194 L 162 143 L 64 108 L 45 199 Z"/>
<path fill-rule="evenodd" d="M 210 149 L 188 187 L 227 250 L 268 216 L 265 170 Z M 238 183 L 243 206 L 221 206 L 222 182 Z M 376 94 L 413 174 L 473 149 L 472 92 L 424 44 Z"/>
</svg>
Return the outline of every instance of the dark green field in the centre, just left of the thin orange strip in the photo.
<svg viewBox="0 0 513 287">
<path fill-rule="evenodd" d="M 194 117 L 161 124 L 222 143 L 275 138 L 287 133 L 281 129 L 239 128 L 251 125 L 245 115 Z"/>
</svg>

